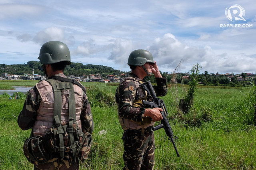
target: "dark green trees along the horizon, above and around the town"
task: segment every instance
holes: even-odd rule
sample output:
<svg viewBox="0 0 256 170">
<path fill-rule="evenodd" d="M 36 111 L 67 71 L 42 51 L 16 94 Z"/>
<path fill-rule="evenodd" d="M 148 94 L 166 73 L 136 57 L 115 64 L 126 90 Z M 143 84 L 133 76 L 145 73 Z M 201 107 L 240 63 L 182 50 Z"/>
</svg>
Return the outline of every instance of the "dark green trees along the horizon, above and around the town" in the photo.
<svg viewBox="0 0 256 170">
<path fill-rule="evenodd" d="M 39 61 L 28 61 L 26 64 L 0 64 L 0 74 L 8 73 L 8 74 L 32 74 L 32 68 L 34 68 L 34 74 L 44 75 L 43 69 L 41 68 L 42 64 Z M 82 64 L 82 63 L 71 63 L 71 65 L 66 66 L 64 70 L 65 75 L 74 75 L 74 76 L 88 76 L 90 74 L 101 74 L 102 78 L 106 78 L 107 75 L 127 75 L 129 72 L 124 72 L 120 70 L 115 70 L 110 66 L 103 65 L 94 65 L 94 64 Z M 168 72 L 161 72 L 162 76 L 166 76 L 167 82 L 171 82 L 173 74 L 169 74 Z M 189 84 L 191 81 L 191 74 L 189 73 L 177 73 L 175 75 L 175 79 L 177 83 Z M 183 78 L 184 76 L 188 76 L 188 78 Z M 205 86 L 246 86 L 250 84 L 248 81 L 248 77 L 246 73 L 242 73 L 240 76 L 244 78 L 244 80 L 239 80 L 238 76 L 234 76 L 233 73 L 228 75 L 222 74 L 208 74 L 207 71 L 204 71 L 202 74 L 198 74 L 199 84 Z M 154 75 L 147 76 L 146 80 L 150 80 L 152 83 L 156 83 Z M 250 80 L 250 79 L 249 79 Z M 252 78 L 255 81 L 255 78 Z"/>
</svg>

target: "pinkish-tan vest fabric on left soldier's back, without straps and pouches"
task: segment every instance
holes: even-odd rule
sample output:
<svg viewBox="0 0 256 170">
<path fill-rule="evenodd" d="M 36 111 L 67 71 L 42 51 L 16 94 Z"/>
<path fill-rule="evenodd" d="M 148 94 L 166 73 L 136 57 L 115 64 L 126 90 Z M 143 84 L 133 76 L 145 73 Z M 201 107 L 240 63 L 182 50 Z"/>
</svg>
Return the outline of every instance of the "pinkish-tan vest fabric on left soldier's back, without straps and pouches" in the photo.
<svg viewBox="0 0 256 170">
<path fill-rule="evenodd" d="M 68 98 L 72 96 L 71 93 L 74 94 L 74 100 L 75 101 L 75 108 L 73 106 L 71 109 L 74 109 L 76 114 L 76 123 L 78 124 L 78 127 L 81 128 L 81 121 L 80 121 L 80 114 L 83 107 L 83 90 L 77 86 L 74 85 L 74 89 L 66 89 L 60 91 L 60 100 L 54 101 L 54 91 L 52 90 L 52 86 L 50 85 L 50 81 L 56 82 L 56 80 L 43 80 L 36 84 L 36 88 L 42 98 L 42 101 L 40 103 L 39 109 L 38 109 L 38 115 L 36 117 L 36 121 L 34 123 L 33 127 L 33 134 L 36 135 L 42 135 L 44 136 L 46 132 L 49 131 L 49 129 L 53 125 L 53 115 L 54 115 L 54 106 L 59 106 L 61 109 L 61 117 L 60 122 L 62 125 L 65 125 L 66 122 L 69 120 L 69 107 L 68 107 Z M 64 86 L 69 86 L 69 88 L 73 88 L 73 84 L 69 84 L 68 82 L 60 82 L 60 84 L 64 84 Z M 62 85 L 60 85 L 62 86 Z M 66 88 L 61 87 L 61 88 Z M 58 96 L 57 96 L 58 97 Z"/>
</svg>

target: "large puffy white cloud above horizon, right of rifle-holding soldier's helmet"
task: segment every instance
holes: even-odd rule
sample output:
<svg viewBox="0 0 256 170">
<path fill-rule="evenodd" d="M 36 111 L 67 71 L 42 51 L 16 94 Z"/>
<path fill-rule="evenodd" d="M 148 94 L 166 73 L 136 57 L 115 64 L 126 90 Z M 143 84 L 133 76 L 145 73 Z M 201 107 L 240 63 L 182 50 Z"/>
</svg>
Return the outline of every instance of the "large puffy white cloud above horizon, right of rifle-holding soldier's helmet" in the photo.
<svg viewBox="0 0 256 170">
<path fill-rule="evenodd" d="M 193 64 L 199 63 L 201 71 L 208 72 L 243 72 L 254 70 L 256 61 L 246 55 L 216 54 L 210 46 L 204 48 L 188 46 L 168 33 L 148 48 L 158 66 L 166 72 L 172 72 L 180 64 L 182 72 L 188 72 Z"/>
</svg>

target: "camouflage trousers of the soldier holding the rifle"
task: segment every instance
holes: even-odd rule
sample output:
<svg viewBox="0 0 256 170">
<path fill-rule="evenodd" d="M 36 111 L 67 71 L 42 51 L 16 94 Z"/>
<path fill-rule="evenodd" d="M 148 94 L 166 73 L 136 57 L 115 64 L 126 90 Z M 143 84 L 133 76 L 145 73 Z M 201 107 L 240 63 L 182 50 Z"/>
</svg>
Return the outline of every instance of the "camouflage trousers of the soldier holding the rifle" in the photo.
<svg viewBox="0 0 256 170">
<path fill-rule="evenodd" d="M 122 137 L 124 141 L 124 170 L 152 170 L 154 168 L 154 132 L 126 130 Z"/>
</svg>

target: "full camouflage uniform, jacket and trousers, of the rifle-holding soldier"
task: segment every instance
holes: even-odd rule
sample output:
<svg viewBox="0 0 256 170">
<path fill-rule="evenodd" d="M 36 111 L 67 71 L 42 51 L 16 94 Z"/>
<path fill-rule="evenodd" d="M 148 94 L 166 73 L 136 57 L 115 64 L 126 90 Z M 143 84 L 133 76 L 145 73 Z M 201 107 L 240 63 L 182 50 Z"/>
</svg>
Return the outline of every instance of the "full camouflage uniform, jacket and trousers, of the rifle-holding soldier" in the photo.
<svg viewBox="0 0 256 170">
<path fill-rule="evenodd" d="M 144 117 L 142 100 L 149 100 L 145 90 L 139 87 L 144 81 L 135 74 L 125 78 L 116 91 L 118 117 L 124 129 L 124 169 L 154 168 L 154 132 L 152 119 Z M 156 78 L 153 86 L 157 96 L 167 94 L 166 78 Z M 150 118 L 150 119 L 148 119 Z M 148 121 L 150 120 L 150 121 Z"/>
</svg>

